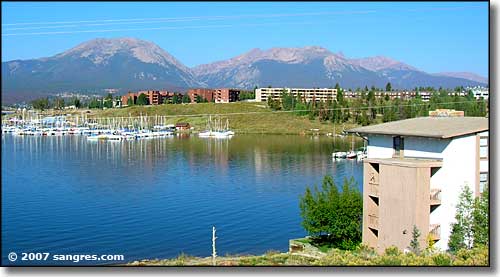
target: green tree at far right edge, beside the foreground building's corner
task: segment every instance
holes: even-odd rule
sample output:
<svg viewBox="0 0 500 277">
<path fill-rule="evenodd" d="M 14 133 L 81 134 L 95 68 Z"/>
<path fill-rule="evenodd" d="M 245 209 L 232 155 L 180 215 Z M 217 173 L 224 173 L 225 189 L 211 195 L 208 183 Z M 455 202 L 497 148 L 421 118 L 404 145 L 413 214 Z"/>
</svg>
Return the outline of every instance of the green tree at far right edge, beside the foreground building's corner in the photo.
<svg viewBox="0 0 500 277">
<path fill-rule="evenodd" d="M 485 186 L 481 197 L 476 197 L 474 201 L 474 223 L 472 232 L 474 234 L 474 247 L 477 245 L 488 246 L 489 244 L 489 193 Z"/>
</svg>

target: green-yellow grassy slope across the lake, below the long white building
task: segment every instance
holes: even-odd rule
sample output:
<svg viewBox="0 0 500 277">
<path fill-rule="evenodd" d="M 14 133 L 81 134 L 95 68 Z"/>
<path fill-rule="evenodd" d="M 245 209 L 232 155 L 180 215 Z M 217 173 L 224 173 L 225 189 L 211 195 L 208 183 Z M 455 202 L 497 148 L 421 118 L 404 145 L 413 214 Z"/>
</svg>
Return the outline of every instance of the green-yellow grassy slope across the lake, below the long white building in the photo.
<svg viewBox="0 0 500 277">
<path fill-rule="evenodd" d="M 265 112 L 259 114 L 230 115 L 231 113 Z M 89 116 L 97 117 L 128 117 L 148 115 L 175 116 L 168 119 L 167 123 L 189 122 L 195 130 L 203 130 L 206 125 L 206 114 L 228 114 L 221 116 L 223 121 L 229 119 L 230 128 L 238 133 L 266 133 L 266 134 L 307 134 L 311 129 L 319 129 L 319 133 L 333 132 L 333 124 L 321 123 L 319 120 L 309 120 L 307 116 L 297 116 L 292 113 L 270 113 L 265 103 L 236 102 L 227 104 L 199 103 L 187 105 L 158 105 L 158 106 L 133 106 L 126 108 L 93 110 Z M 183 115 L 200 115 L 189 117 Z M 345 128 L 352 127 L 345 124 Z M 336 132 L 342 131 L 342 125 L 336 127 Z"/>
</svg>

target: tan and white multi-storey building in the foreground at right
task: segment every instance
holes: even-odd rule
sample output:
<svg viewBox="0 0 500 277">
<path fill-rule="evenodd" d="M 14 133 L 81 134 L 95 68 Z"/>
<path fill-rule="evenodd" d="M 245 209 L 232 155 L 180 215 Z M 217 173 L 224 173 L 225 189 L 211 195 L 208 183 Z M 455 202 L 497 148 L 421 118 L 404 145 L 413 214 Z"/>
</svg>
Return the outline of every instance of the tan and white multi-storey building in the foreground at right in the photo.
<svg viewBox="0 0 500 277">
<path fill-rule="evenodd" d="M 488 119 L 420 117 L 354 128 L 368 141 L 363 171 L 363 243 L 407 249 L 413 226 L 446 250 L 463 186 L 488 182 Z"/>
</svg>

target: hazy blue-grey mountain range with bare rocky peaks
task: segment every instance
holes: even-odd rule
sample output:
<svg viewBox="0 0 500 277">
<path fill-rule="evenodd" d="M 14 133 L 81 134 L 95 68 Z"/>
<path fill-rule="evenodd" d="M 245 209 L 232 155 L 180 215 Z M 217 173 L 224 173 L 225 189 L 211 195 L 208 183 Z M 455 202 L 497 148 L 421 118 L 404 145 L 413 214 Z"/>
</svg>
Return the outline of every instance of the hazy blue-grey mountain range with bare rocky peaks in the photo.
<svg viewBox="0 0 500 277">
<path fill-rule="evenodd" d="M 487 85 L 468 72 L 430 74 L 388 57 L 350 59 L 318 46 L 252 49 L 189 68 L 156 44 L 135 38 L 93 39 L 48 58 L 2 62 L 2 101 L 60 92 L 184 91 L 193 87 L 255 86 L 393 88 Z"/>
</svg>

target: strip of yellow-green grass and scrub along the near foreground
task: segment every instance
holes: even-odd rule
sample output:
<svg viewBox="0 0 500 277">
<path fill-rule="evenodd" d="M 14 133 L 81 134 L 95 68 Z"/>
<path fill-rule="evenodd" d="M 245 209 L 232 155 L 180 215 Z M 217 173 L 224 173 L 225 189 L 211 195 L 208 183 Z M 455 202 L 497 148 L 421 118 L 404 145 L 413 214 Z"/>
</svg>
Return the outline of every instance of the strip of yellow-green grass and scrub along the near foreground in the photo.
<svg viewBox="0 0 500 277">
<path fill-rule="evenodd" d="M 424 251 L 421 255 L 403 254 L 399 250 L 386 250 L 382 255 L 370 249 L 344 251 L 332 249 L 322 257 L 270 251 L 261 256 L 217 257 L 218 266 L 488 266 L 488 248 L 462 249 L 456 254 Z M 211 266 L 210 257 L 200 258 L 181 255 L 174 259 L 142 260 L 127 266 Z"/>
</svg>

